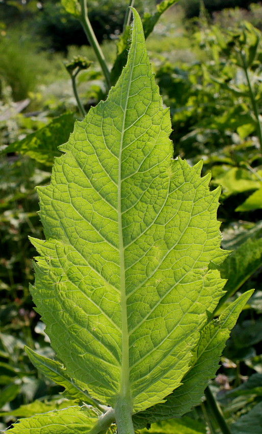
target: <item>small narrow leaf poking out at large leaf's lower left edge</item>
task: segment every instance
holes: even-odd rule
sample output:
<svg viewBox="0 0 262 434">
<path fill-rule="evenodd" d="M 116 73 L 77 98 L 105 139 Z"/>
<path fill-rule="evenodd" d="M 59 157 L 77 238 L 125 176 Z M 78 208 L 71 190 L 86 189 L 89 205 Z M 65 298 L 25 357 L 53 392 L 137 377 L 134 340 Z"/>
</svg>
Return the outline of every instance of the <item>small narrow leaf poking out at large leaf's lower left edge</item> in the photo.
<svg viewBox="0 0 262 434">
<path fill-rule="evenodd" d="M 66 375 L 66 370 L 63 368 L 61 363 L 43 357 L 28 347 L 26 347 L 25 350 L 30 361 L 43 375 L 65 388 L 63 394 L 67 398 L 78 399 L 88 404 L 94 403 L 88 393 L 85 392 L 83 384 L 79 381 L 74 382 L 72 378 Z"/>
</svg>

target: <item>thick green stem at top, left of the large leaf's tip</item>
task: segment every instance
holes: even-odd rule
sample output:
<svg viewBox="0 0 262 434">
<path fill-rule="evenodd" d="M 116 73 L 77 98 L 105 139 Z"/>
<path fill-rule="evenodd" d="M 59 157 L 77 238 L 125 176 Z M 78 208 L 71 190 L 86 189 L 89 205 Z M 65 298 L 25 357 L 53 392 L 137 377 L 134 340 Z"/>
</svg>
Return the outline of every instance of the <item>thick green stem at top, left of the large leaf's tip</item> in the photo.
<svg viewBox="0 0 262 434">
<path fill-rule="evenodd" d="M 106 86 L 107 90 L 109 91 L 111 87 L 111 80 L 110 80 L 110 72 L 106 64 L 105 56 L 100 48 L 100 45 L 98 43 L 98 40 L 96 38 L 96 35 L 93 32 L 91 23 L 88 18 L 87 14 L 87 5 L 86 0 L 80 0 L 81 5 L 81 23 L 84 28 L 85 34 L 87 36 L 87 39 L 93 49 L 93 51 L 96 53 L 96 56 L 98 58 L 98 61 L 100 63 L 100 66 L 102 68 L 102 71 L 104 73 L 105 79 L 106 79 Z"/>
</svg>

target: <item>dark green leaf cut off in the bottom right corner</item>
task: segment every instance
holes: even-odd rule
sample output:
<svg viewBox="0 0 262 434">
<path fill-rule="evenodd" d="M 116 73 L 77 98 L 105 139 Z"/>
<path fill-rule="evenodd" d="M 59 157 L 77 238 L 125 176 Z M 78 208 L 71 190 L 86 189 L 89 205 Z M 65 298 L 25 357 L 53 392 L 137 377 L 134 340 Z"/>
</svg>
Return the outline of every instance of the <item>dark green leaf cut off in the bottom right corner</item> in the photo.
<svg viewBox="0 0 262 434">
<path fill-rule="evenodd" d="M 232 434 L 262 434 L 262 402 L 230 426 Z"/>
</svg>

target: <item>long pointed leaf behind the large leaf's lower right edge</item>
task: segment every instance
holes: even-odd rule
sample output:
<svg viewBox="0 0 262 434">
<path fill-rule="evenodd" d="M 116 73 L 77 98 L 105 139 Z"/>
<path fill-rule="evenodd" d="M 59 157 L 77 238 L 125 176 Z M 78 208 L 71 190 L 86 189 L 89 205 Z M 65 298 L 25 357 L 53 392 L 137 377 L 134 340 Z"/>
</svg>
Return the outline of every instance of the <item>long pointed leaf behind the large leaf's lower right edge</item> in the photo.
<svg viewBox="0 0 262 434">
<path fill-rule="evenodd" d="M 253 290 L 242 294 L 222 312 L 219 320 L 213 320 L 204 327 L 183 384 L 166 397 L 164 404 L 155 405 L 145 412 L 134 415 L 135 426 L 139 428 L 154 421 L 179 417 L 200 402 L 208 379 L 216 375 L 230 330 L 252 293 Z"/>
</svg>

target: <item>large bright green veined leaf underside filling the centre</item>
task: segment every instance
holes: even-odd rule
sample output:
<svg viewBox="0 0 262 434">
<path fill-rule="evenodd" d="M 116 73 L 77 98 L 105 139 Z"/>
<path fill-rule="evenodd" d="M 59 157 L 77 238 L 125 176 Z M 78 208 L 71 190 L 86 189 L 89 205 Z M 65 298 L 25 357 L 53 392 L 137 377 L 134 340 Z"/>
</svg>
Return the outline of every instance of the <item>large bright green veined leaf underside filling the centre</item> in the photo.
<svg viewBox="0 0 262 434">
<path fill-rule="evenodd" d="M 219 190 L 173 160 L 169 110 L 134 12 L 127 66 L 107 101 L 76 122 L 51 185 L 38 188 L 37 311 L 68 377 L 133 411 L 171 394 L 223 294 Z"/>
</svg>

